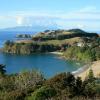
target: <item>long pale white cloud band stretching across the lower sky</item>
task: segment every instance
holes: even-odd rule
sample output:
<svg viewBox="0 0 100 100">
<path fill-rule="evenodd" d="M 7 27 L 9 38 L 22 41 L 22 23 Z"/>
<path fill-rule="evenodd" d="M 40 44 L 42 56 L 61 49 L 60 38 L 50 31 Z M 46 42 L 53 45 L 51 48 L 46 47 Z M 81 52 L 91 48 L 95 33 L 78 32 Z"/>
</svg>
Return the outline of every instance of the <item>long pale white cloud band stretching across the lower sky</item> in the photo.
<svg viewBox="0 0 100 100">
<path fill-rule="evenodd" d="M 0 22 L 9 20 L 15 26 L 57 24 L 60 28 L 100 29 L 100 11 L 95 6 L 71 12 L 17 11 L 9 15 L 0 16 Z"/>
</svg>

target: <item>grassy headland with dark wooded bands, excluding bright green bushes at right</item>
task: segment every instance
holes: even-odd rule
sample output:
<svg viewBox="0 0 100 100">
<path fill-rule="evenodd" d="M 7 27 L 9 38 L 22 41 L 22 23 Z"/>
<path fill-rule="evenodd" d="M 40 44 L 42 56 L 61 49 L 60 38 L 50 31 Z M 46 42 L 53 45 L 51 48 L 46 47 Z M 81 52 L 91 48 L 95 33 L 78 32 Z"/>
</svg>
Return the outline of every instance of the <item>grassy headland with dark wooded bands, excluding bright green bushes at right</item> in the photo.
<svg viewBox="0 0 100 100">
<path fill-rule="evenodd" d="M 94 43 L 93 43 L 94 41 Z M 3 51 L 15 54 L 65 52 L 69 47 L 79 44 L 99 47 L 100 37 L 96 33 L 87 33 L 80 29 L 46 30 L 37 33 L 31 40 L 6 41 Z"/>
</svg>

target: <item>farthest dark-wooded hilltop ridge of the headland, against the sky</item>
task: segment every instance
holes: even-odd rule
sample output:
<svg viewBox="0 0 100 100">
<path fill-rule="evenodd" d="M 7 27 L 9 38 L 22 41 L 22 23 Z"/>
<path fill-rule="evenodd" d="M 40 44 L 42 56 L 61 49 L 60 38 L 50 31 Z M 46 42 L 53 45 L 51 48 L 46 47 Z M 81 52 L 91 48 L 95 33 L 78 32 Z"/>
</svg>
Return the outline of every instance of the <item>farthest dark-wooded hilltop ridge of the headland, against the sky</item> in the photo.
<svg viewBox="0 0 100 100">
<path fill-rule="evenodd" d="M 71 29 L 71 30 L 46 30 L 44 32 L 38 33 L 33 37 L 33 40 L 46 41 L 46 40 L 64 40 L 75 37 L 99 37 L 97 33 L 88 33 L 81 29 Z"/>
</svg>

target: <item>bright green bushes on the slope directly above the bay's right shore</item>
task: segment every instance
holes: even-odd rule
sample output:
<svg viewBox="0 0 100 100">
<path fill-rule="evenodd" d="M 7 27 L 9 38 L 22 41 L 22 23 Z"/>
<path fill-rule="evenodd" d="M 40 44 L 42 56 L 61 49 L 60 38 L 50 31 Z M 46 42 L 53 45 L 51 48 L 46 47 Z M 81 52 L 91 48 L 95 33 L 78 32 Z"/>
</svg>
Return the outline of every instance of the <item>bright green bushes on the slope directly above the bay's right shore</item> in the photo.
<svg viewBox="0 0 100 100">
<path fill-rule="evenodd" d="M 87 45 L 84 47 L 72 46 L 64 52 L 64 56 L 71 60 L 96 61 L 100 59 L 100 47 L 89 47 Z"/>
</svg>

